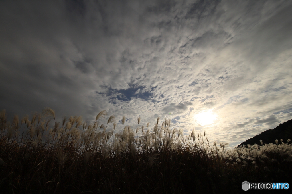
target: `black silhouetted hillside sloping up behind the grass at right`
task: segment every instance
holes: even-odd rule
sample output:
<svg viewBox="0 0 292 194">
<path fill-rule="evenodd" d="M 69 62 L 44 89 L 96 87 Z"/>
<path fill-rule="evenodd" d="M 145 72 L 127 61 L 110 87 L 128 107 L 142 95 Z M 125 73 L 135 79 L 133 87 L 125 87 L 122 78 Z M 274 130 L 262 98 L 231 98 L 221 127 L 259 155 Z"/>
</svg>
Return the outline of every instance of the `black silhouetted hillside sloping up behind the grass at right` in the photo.
<svg viewBox="0 0 292 194">
<path fill-rule="evenodd" d="M 245 145 L 247 147 L 247 144 L 253 145 L 253 144 L 260 144 L 260 140 L 263 140 L 263 145 L 265 143 L 273 143 L 275 144 L 276 139 L 279 140 L 279 143 L 281 139 L 285 143 L 287 143 L 288 139 L 292 139 L 292 120 L 288 120 L 287 122 L 279 124 L 274 129 L 268 129 L 267 131 L 263 131 L 261 134 L 258 134 L 254 136 L 253 138 L 250 138 L 243 143 L 239 144 L 237 147 L 240 147 L 241 145 Z M 289 142 L 291 143 L 291 142 Z"/>
</svg>

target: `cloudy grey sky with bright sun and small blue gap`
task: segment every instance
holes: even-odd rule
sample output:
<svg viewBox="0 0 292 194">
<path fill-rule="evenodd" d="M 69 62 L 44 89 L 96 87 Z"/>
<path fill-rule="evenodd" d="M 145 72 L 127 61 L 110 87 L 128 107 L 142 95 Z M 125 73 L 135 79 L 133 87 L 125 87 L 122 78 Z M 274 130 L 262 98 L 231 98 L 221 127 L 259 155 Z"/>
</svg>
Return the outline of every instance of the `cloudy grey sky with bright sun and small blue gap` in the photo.
<svg viewBox="0 0 292 194">
<path fill-rule="evenodd" d="M 292 119 L 290 0 L 0 1 L 0 26 L 8 117 L 168 118 L 230 147 Z"/>
</svg>

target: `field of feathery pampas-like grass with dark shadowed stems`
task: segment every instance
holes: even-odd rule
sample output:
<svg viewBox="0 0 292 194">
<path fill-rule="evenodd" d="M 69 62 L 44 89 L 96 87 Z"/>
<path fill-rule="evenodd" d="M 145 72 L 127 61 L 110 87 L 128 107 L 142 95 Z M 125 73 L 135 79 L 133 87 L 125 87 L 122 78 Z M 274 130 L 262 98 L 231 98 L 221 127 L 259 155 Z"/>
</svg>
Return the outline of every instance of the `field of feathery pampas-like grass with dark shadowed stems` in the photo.
<svg viewBox="0 0 292 194">
<path fill-rule="evenodd" d="M 49 107 L 9 122 L 2 110 L 0 193 L 252 192 L 241 189 L 243 181 L 292 186 L 290 139 L 226 150 L 226 143 L 210 144 L 206 133 L 183 136 L 167 119 L 150 129 L 138 118 L 135 131 L 124 122 L 117 132 L 105 111 L 91 124 L 77 116 L 56 122 Z"/>
</svg>

